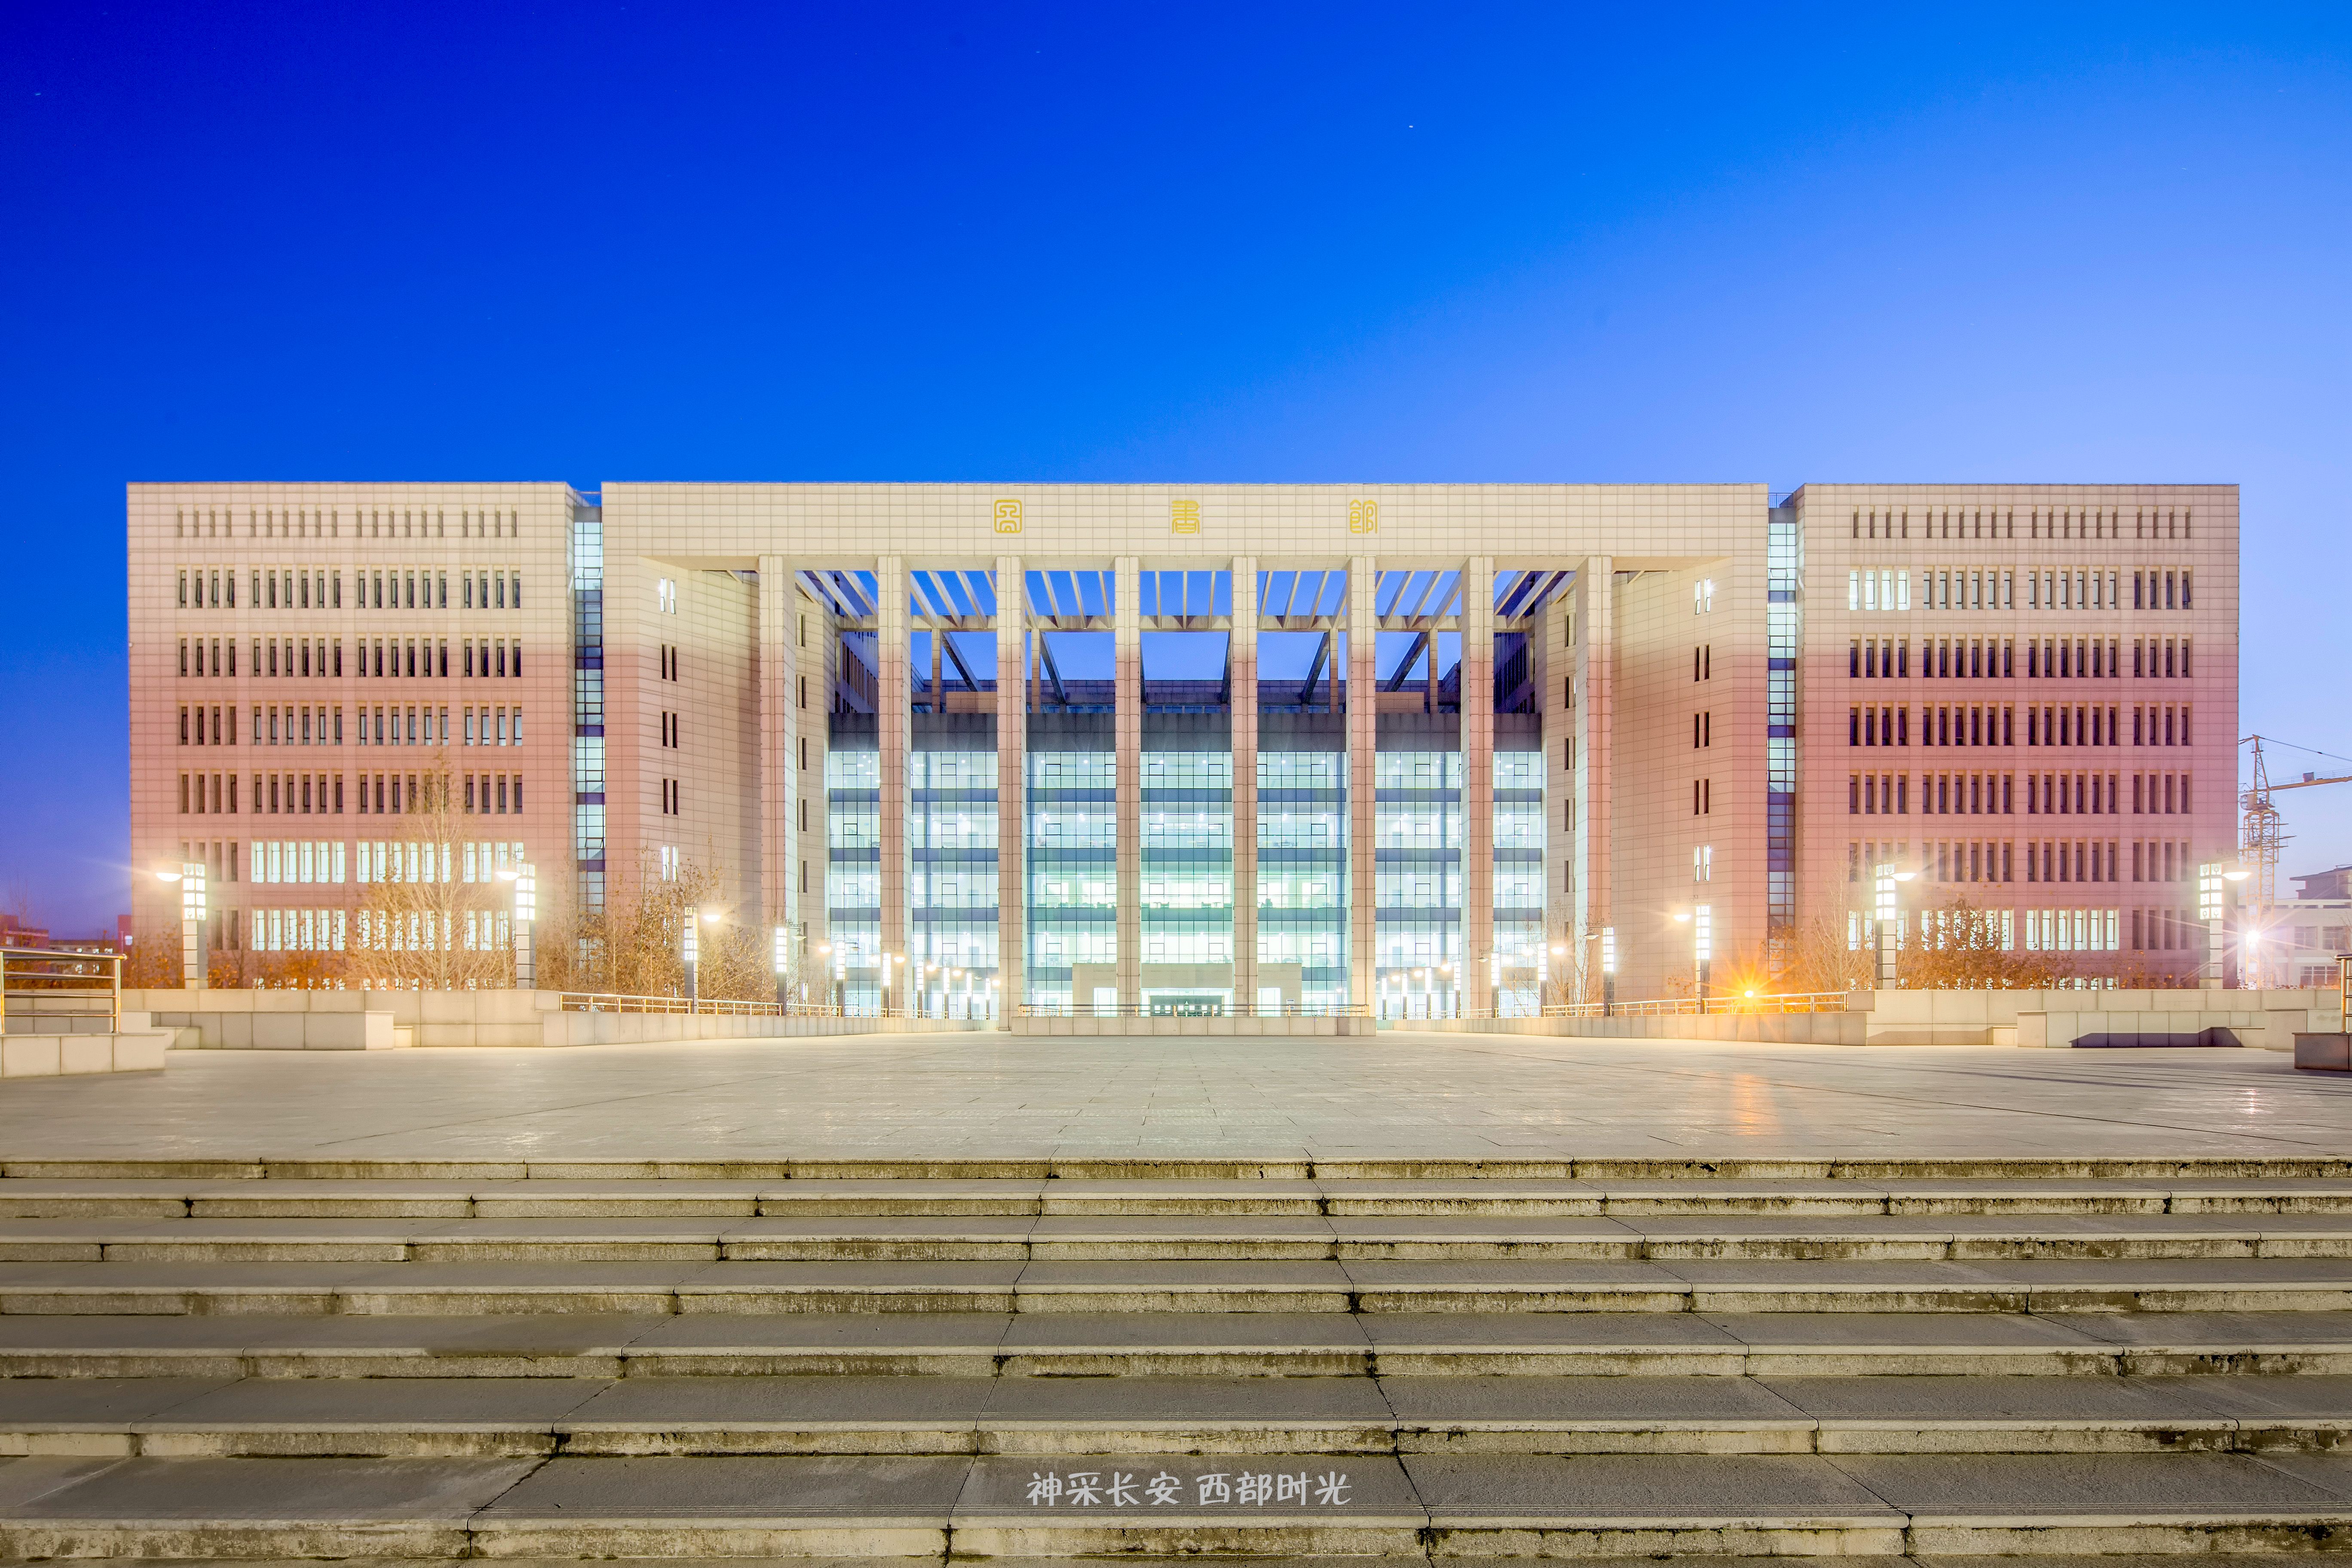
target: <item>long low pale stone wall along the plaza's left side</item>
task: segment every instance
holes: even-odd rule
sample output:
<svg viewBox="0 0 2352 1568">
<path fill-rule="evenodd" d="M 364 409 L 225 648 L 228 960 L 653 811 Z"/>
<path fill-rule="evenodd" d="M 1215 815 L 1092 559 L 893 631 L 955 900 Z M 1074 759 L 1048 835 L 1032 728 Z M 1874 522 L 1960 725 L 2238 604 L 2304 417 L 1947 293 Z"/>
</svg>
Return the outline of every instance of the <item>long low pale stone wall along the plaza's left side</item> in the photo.
<svg viewBox="0 0 2352 1568">
<path fill-rule="evenodd" d="M 938 1018 L 567 1013 L 560 992 L 151 990 L 139 999 L 183 1051 L 393 1051 L 409 1046 L 609 1046 L 983 1030 Z"/>
</svg>

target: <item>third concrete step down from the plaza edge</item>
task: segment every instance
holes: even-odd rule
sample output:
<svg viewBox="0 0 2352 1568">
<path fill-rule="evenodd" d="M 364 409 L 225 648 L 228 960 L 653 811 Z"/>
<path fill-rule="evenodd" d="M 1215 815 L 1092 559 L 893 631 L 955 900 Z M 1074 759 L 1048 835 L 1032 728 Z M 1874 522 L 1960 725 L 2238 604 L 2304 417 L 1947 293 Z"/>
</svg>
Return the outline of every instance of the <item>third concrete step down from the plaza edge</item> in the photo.
<svg viewBox="0 0 2352 1568">
<path fill-rule="evenodd" d="M 2352 1213 L 56 1215 L 0 1262 L 1425 1262 L 2352 1258 Z"/>
</svg>

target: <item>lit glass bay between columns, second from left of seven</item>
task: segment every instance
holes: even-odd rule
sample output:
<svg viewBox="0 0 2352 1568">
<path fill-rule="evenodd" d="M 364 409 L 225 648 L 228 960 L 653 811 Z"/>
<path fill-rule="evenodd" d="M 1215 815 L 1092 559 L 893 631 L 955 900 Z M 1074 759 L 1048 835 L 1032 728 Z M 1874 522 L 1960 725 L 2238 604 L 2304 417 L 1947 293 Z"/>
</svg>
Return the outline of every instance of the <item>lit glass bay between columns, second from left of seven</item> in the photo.
<svg viewBox="0 0 2352 1568">
<path fill-rule="evenodd" d="M 997 755 L 917 750 L 906 799 L 920 1006 L 934 1018 L 995 1018 Z"/>
</svg>

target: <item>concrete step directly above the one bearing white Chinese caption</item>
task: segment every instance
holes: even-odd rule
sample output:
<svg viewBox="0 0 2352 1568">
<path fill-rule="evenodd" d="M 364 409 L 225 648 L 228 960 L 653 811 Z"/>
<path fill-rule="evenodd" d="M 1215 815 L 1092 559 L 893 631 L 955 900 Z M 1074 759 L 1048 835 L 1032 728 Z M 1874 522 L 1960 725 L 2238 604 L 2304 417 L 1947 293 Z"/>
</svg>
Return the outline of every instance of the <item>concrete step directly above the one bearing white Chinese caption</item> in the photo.
<svg viewBox="0 0 2352 1568">
<path fill-rule="evenodd" d="M 2352 1378 L 87 1378 L 0 1453 L 2328 1453 Z"/>
</svg>

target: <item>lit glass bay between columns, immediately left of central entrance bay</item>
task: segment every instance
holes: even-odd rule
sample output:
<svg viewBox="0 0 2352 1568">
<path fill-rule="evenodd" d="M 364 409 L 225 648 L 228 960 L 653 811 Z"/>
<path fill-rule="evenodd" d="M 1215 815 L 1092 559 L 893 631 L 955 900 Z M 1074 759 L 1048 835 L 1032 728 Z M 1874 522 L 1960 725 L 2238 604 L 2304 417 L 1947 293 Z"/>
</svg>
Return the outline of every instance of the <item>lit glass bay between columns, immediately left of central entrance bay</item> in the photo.
<svg viewBox="0 0 2352 1568">
<path fill-rule="evenodd" d="M 1117 757 L 1033 750 L 1028 773 L 1028 994 L 1035 1006 L 1068 1009 L 1073 966 L 1110 964 L 1120 947 Z"/>
</svg>

